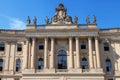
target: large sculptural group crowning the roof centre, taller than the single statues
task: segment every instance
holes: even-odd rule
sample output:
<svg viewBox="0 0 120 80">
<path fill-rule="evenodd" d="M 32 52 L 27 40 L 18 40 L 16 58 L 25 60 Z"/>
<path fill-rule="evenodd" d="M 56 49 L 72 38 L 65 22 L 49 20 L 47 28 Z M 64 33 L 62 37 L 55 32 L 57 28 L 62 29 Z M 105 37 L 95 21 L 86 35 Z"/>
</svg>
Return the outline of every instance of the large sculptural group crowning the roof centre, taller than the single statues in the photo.
<svg viewBox="0 0 120 80">
<path fill-rule="evenodd" d="M 62 3 L 59 4 L 59 6 L 56 8 L 56 14 L 51 19 L 52 24 L 66 24 L 66 23 L 72 23 L 71 16 L 67 15 L 67 9 L 64 8 L 64 5 Z"/>
</svg>

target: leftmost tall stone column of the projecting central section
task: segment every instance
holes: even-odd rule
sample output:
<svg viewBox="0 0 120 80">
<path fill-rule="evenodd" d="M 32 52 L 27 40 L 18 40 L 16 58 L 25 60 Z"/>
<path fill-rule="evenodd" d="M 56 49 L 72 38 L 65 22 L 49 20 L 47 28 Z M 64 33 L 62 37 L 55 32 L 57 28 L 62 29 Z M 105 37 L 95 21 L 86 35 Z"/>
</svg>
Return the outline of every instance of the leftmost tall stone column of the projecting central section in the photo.
<svg viewBox="0 0 120 80">
<path fill-rule="evenodd" d="M 26 40 L 26 44 L 23 47 L 24 61 L 23 61 L 23 69 L 28 68 L 28 51 L 29 51 L 29 41 Z"/>
</svg>

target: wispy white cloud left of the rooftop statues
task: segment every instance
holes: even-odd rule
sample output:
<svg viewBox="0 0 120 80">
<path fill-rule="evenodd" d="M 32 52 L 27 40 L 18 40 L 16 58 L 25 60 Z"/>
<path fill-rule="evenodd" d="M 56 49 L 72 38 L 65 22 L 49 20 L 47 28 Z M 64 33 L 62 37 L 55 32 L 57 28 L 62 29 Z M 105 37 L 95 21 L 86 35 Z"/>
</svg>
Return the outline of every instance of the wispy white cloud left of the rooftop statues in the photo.
<svg viewBox="0 0 120 80">
<path fill-rule="evenodd" d="M 9 27 L 10 29 L 25 29 L 26 24 L 17 18 L 9 18 Z"/>
</svg>

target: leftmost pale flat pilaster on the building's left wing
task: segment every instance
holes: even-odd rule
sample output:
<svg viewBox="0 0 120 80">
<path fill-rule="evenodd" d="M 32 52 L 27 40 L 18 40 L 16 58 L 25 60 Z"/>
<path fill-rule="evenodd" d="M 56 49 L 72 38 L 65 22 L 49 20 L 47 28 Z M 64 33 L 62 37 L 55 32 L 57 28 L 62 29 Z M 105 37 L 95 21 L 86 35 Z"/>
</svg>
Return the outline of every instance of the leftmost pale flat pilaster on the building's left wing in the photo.
<svg viewBox="0 0 120 80">
<path fill-rule="evenodd" d="M 7 42 L 5 44 L 5 55 L 6 55 L 6 58 L 5 58 L 5 68 L 4 70 L 7 71 L 9 69 L 9 59 L 10 59 L 10 43 Z"/>
</svg>

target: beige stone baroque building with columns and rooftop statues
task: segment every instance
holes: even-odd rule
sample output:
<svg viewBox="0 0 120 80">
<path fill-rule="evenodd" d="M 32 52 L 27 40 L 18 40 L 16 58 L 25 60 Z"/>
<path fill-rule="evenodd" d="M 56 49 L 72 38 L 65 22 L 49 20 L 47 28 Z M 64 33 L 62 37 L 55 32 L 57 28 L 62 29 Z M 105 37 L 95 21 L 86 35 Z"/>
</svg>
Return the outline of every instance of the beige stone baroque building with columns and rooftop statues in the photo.
<svg viewBox="0 0 120 80">
<path fill-rule="evenodd" d="M 0 80 L 120 80 L 120 29 L 79 24 L 63 4 L 46 24 L 0 30 Z"/>
</svg>

